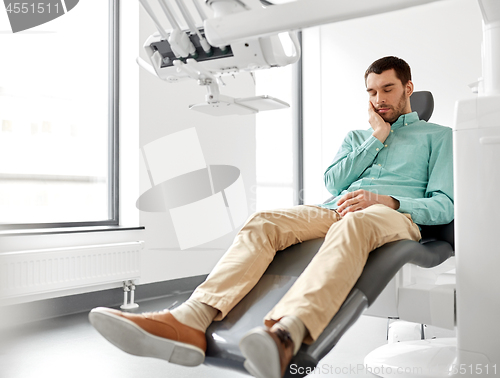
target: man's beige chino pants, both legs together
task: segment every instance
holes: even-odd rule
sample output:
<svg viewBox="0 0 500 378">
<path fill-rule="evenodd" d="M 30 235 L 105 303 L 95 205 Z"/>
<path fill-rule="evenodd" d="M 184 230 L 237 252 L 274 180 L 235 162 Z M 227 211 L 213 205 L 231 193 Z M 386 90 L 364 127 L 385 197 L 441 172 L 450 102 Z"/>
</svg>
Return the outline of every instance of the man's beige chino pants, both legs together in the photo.
<svg viewBox="0 0 500 378">
<path fill-rule="evenodd" d="M 395 240 L 421 238 L 409 214 L 385 205 L 344 217 L 307 205 L 258 212 L 192 298 L 219 310 L 215 320 L 221 320 L 257 284 L 276 251 L 320 237 L 325 241 L 318 253 L 265 317 L 270 326 L 284 316 L 297 316 L 309 331 L 305 342 L 316 340 L 337 313 L 372 250 Z"/>
</svg>

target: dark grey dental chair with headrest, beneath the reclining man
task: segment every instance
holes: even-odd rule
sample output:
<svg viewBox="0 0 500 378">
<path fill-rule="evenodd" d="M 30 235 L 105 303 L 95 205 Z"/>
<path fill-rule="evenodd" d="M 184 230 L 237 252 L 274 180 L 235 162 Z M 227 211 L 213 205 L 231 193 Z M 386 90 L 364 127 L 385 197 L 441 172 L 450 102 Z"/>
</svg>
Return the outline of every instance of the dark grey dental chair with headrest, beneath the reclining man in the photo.
<svg viewBox="0 0 500 378">
<path fill-rule="evenodd" d="M 421 119 L 428 120 L 434 108 L 430 92 L 415 92 L 412 109 Z M 421 226 L 420 242 L 400 240 L 387 243 L 372 251 L 364 270 L 338 313 L 320 337 L 311 345 L 302 344 L 292 359 L 296 369 L 287 369 L 285 377 L 302 377 L 336 345 L 340 337 L 373 304 L 394 275 L 406 263 L 430 268 L 453 255 L 453 222 L 442 226 Z M 298 276 L 318 252 L 324 239 L 314 239 L 293 245 L 276 256 L 258 284 L 219 322 L 213 322 L 206 332 L 205 364 L 233 369 L 248 374 L 245 358 L 238 344 L 250 329 L 263 325 L 264 316 L 290 289 Z M 304 372 L 299 374 L 298 372 Z"/>
</svg>

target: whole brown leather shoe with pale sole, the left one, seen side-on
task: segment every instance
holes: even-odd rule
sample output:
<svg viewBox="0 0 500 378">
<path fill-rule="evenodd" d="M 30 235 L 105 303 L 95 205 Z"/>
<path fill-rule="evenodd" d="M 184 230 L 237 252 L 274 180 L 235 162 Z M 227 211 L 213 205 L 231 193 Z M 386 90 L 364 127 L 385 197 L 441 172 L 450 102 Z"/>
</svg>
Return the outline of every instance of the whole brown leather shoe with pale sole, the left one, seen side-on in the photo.
<svg viewBox="0 0 500 378">
<path fill-rule="evenodd" d="M 205 334 L 178 322 L 168 310 L 132 314 L 98 307 L 90 312 L 89 320 L 124 352 L 184 366 L 197 366 L 205 360 Z"/>
</svg>

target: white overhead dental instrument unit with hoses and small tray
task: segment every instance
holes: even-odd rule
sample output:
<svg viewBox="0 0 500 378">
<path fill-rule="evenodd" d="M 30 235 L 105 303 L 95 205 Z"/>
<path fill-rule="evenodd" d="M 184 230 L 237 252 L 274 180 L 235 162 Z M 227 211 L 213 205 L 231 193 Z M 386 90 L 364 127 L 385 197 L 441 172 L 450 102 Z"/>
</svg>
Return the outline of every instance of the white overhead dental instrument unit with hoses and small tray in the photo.
<svg viewBox="0 0 500 378">
<path fill-rule="evenodd" d="M 204 22 L 207 18 L 203 8 L 194 0 L 199 17 Z M 158 78 L 175 83 L 186 79 L 197 80 L 198 84 L 207 88 L 204 103 L 191 105 L 190 109 L 210 115 L 246 115 L 259 111 L 288 108 L 289 105 L 270 96 L 248 98 L 232 98 L 222 95 L 219 87 L 223 85 L 225 76 L 239 72 L 253 72 L 271 67 L 283 67 L 298 61 L 300 43 L 296 32 L 289 32 L 288 38 L 293 46 L 292 55 L 287 55 L 283 43 L 277 33 L 265 37 L 249 36 L 240 41 L 227 44 L 214 44 L 207 41 L 203 26 L 196 26 L 183 0 L 175 0 L 189 31 L 181 30 L 174 16 L 171 0 L 158 0 L 161 9 L 172 26 L 166 30 L 148 0 L 140 0 L 149 14 L 157 32 L 144 43 L 150 63 L 138 58 L 138 63 Z M 248 10 L 258 10 L 262 5 L 252 1 L 208 0 L 214 18 Z M 217 28 L 217 27 L 216 27 Z"/>
</svg>

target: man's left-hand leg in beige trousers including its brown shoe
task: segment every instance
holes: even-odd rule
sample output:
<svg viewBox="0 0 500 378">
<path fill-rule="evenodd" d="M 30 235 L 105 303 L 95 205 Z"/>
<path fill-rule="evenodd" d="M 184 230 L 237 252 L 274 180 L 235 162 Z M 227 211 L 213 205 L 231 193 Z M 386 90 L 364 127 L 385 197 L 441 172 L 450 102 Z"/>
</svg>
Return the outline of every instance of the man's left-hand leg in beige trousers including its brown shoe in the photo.
<svg viewBox="0 0 500 378">
<path fill-rule="evenodd" d="M 203 362 L 205 331 L 222 319 L 255 286 L 276 251 L 325 236 L 340 217 L 317 206 L 254 214 L 233 245 L 190 297 L 170 311 L 129 314 L 99 308 L 89 315 L 94 327 L 122 350 L 181 365 Z"/>
</svg>

